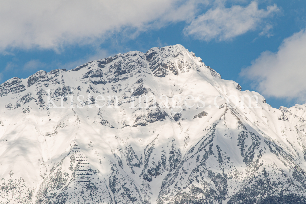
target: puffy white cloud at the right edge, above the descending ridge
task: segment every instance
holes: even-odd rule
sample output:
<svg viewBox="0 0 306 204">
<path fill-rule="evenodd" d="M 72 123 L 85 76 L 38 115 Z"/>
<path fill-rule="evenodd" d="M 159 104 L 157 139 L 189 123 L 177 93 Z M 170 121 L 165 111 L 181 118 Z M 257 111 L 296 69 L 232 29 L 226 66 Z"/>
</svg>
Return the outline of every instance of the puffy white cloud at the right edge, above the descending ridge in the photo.
<svg viewBox="0 0 306 204">
<path fill-rule="evenodd" d="M 255 82 L 263 95 L 306 102 L 306 32 L 286 38 L 278 52 L 265 51 L 243 69 L 241 76 Z"/>
</svg>

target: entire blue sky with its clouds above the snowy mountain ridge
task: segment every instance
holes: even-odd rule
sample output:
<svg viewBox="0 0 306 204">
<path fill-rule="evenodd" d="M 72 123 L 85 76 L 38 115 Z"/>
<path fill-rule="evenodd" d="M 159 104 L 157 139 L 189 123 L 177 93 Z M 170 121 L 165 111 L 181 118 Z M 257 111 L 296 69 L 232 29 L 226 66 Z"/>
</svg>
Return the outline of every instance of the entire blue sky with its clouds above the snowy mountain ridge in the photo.
<svg viewBox="0 0 306 204">
<path fill-rule="evenodd" d="M 0 83 L 181 44 L 275 108 L 306 102 L 302 0 L 9 1 L 0 25 Z"/>
</svg>

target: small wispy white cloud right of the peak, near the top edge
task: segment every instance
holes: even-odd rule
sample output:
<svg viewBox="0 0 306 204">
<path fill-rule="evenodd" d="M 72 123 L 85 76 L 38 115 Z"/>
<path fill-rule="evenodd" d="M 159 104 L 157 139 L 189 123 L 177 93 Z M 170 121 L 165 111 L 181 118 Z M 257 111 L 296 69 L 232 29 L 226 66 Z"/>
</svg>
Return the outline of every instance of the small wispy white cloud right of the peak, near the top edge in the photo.
<svg viewBox="0 0 306 204">
<path fill-rule="evenodd" d="M 193 35 L 196 39 L 205 41 L 214 38 L 219 41 L 230 40 L 256 29 L 263 19 L 271 17 L 278 11 L 279 8 L 275 4 L 268 6 L 267 10 L 258 9 L 257 2 L 251 2 L 246 7 L 236 5 L 230 8 L 218 4 L 192 20 L 191 24 L 185 27 L 184 32 L 185 35 Z M 265 29 L 271 29 L 269 26 Z"/>
</svg>

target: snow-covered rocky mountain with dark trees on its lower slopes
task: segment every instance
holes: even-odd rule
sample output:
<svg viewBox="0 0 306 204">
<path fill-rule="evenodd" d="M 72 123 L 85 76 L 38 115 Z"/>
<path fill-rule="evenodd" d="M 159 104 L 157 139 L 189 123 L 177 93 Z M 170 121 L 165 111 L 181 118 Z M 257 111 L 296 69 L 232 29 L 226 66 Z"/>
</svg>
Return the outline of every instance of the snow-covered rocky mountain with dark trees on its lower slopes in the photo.
<svg viewBox="0 0 306 204">
<path fill-rule="evenodd" d="M 1 204 L 306 203 L 306 105 L 272 108 L 181 45 L 15 77 L 0 99 Z"/>
</svg>

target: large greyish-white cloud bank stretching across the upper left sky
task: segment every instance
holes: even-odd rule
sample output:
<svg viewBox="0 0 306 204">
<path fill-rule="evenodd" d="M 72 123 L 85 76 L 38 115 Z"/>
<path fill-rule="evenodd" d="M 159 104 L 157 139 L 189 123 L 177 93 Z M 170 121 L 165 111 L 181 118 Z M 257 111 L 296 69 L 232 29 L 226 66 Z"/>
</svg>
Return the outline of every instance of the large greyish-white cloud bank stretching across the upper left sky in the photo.
<svg viewBox="0 0 306 204">
<path fill-rule="evenodd" d="M 94 44 L 122 29 L 135 33 L 191 19 L 195 6 L 194 0 L 1 0 L 0 51 Z"/>
</svg>

